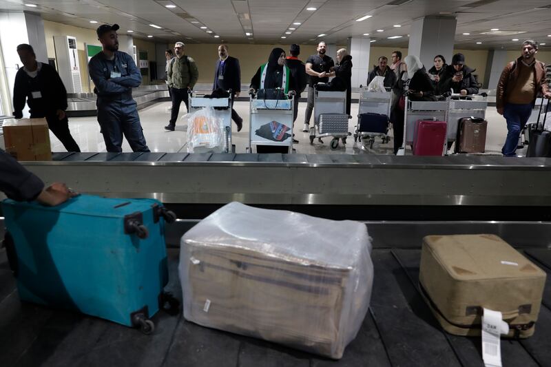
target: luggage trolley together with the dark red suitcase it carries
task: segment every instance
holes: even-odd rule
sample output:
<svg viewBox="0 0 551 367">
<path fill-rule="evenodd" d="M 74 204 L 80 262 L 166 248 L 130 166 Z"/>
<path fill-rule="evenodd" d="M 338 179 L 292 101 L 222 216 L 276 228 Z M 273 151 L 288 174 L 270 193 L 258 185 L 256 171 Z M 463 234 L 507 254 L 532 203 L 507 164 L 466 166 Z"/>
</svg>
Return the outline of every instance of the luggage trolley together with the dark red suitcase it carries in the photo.
<svg viewBox="0 0 551 367">
<path fill-rule="evenodd" d="M 397 155 L 404 156 L 406 145 L 414 156 L 444 156 L 450 101 L 409 101 L 404 111 L 404 141 Z"/>
</svg>

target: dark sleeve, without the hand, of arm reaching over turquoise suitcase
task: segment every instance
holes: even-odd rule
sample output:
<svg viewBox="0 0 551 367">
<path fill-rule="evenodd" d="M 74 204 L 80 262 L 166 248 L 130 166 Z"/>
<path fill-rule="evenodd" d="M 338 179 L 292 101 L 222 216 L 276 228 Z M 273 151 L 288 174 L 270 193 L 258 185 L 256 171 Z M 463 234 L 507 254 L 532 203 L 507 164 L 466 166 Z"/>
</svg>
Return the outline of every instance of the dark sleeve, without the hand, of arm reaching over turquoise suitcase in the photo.
<svg viewBox="0 0 551 367">
<path fill-rule="evenodd" d="M 30 201 L 37 198 L 43 188 L 40 178 L 0 149 L 0 191 L 10 199 Z"/>
</svg>

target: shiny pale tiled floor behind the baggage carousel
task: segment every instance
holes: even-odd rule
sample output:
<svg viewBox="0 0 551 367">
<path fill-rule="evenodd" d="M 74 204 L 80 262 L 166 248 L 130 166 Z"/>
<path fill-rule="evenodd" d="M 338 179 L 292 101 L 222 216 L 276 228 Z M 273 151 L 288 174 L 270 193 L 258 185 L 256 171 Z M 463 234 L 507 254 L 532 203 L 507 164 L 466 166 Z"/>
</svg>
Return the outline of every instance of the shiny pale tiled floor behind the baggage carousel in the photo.
<svg viewBox="0 0 551 367">
<path fill-rule="evenodd" d="M 167 132 L 163 127 L 167 125 L 170 118 L 169 106 L 169 102 L 159 102 L 139 111 L 147 145 L 149 145 L 149 149 L 152 151 L 187 151 L 187 133 L 185 132 L 185 122 L 182 120 L 182 117 L 185 114 L 185 106 L 183 105 L 183 107 L 180 107 L 180 115 L 176 125 L 176 131 Z M 357 103 L 353 103 L 351 111 L 352 116 L 357 116 L 357 107 Z M 234 108 L 237 110 L 238 114 L 242 116 L 244 126 L 241 132 L 236 132 L 236 126 L 233 125 L 233 144 L 236 145 L 237 153 L 245 153 L 245 148 L 248 146 L 249 141 L 249 103 L 245 101 L 238 101 L 235 103 Z M 314 144 L 311 145 L 309 142 L 309 134 L 302 132 L 305 109 L 306 103 L 300 103 L 298 118 L 294 127 L 295 138 L 300 141 L 299 144 L 294 145 L 297 153 L 392 154 L 392 140 L 390 143 L 383 145 L 381 140 L 377 139 L 372 151 L 362 149 L 360 144 L 354 143 L 352 136 L 349 137 L 346 146 L 340 145 L 340 147 L 335 151 L 331 151 L 329 148 L 329 141 L 331 138 L 325 138 L 324 144 L 320 144 L 317 140 L 315 140 Z M 502 116 L 497 114 L 495 107 L 488 107 L 486 119 L 488 120 L 486 153 L 499 154 L 507 134 L 505 120 Z M 356 117 L 350 120 L 349 132 L 354 131 L 356 122 Z M 82 151 L 105 151 L 105 143 L 103 142 L 103 136 L 99 133 L 99 125 L 96 117 L 70 118 L 70 129 Z M 65 150 L 59 140 L 57 140 L 51 133 L 50 138 L 52 142 L 52 151 Z M 126 141 L 123 143 L 123 151 L 132 151 Z M 409 150 L 406 151 L 406 154 L 408 153 Z M 518 151 L 518 153 L 523 154 L 523 151 Z"/>
</svg>

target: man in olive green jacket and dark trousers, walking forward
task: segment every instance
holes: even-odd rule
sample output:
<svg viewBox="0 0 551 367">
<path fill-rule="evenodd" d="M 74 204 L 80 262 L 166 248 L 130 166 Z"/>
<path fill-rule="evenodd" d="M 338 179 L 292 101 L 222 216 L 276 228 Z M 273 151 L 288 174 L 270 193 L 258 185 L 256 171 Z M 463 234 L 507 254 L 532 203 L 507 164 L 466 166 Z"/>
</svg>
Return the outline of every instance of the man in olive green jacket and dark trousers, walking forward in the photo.
<svg viewBox="0 0 551 367">
<path fill-rule="evenodd" d="M 194 59 L 187 56 L 184 49 L 185 44 L 183 42 L 176 42 L 174 45 L 176 57 L 172 59 L 167 72 L 168 86 L 172 92 L 172 110 L 170 121 L 165 126 L 165 129 L 171 132 L 174 132 L 182 101 L 184 101 L 185 107 L 189 112 L 187 96 L 189 91 L 194 89 L 195 83 L 197 83 L 197 79 L 199 78 L 199 70 Z"/>
</svg>

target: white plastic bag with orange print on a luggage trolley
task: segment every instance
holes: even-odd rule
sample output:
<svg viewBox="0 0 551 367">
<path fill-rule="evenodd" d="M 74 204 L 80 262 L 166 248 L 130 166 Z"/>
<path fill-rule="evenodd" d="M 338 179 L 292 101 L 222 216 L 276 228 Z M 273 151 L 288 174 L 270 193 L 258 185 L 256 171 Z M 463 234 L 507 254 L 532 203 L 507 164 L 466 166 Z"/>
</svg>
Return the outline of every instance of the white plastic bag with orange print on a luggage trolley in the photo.
<svg viewBox="0 0 551 367">
<path fill-rule="evenodd" d="M 216 116 L 214 108 L 206 107 L 187 114 L 187 152 L 220 153 L 224 147 L 222 119 Z"/>
</svg>

